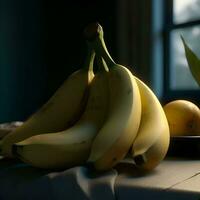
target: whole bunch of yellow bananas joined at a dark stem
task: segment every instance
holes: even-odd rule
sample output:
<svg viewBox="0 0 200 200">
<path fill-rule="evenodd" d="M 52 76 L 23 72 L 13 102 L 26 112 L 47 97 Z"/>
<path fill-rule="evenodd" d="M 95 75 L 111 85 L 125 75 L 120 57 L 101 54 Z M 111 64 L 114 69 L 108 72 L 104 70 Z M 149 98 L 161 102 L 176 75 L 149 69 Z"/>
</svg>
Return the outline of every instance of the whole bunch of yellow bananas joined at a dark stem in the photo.
<svg viewBox="0 0 200 200">
<path fill-rule="evenodd" d="M 128 68 L 114 62 L 98 23 L 88 25 L 84 34 L 84 67 L 1 140 L 1 155 L 39 168 L 90 163 L 96 170 L 108 170 L 130 154 L 137 167 L 153 169 L 169 147 L 169 126 L 159 100 Z"/>
</svg>

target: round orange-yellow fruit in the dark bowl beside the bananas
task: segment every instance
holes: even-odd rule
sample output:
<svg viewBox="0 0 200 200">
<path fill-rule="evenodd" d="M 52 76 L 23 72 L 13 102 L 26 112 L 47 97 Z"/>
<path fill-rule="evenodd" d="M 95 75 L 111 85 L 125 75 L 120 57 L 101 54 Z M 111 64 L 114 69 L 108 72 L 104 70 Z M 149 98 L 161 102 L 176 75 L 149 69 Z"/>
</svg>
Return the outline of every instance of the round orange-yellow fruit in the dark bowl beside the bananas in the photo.
<svg viewBox="0 0 200 200">
<path fill-rule="evenodd" d="M 200 110 L 188 100 L 173 100 L 163 106 L 171 136 L 200 135 Z"/>
</svg>

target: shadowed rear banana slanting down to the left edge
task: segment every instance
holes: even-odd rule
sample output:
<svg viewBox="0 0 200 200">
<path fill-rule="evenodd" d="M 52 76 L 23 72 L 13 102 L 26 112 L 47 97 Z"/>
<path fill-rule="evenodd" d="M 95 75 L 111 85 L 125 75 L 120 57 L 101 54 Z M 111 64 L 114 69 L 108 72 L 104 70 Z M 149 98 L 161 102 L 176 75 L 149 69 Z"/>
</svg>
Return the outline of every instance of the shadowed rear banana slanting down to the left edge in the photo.
<svg viewBox="0 0 200 200">
<path fill-rule="evenodd" d="M 89 85 L 94 77 L 94 56 L 94 51 L 88 48 L 84 67 L 72 73 L 47 103 L 22 126 L 2 139 L 1 155 L 12 157 L 12 144 L 33 135 L 62 131 L 80 118 L 87 103 Z"/>
</svg>

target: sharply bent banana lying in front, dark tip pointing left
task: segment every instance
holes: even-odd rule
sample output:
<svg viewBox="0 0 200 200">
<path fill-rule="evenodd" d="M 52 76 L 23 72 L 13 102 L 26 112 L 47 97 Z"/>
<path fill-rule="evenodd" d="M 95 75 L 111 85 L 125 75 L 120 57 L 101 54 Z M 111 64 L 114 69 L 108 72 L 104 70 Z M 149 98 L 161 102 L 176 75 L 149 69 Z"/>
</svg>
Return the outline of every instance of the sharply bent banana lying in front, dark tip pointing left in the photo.
<svg viewBox="0 0 200 200">
<path fill-rule="evenodd" d="M 81 165 L 88 159 L 94 137 L 108 109 L 107 71 L 95 74 L 85 112 L 80 120 L 61 132 L 32 136 L 13 145 L 13 154 L 25 163 L 46 169 Z"/>
</svg>

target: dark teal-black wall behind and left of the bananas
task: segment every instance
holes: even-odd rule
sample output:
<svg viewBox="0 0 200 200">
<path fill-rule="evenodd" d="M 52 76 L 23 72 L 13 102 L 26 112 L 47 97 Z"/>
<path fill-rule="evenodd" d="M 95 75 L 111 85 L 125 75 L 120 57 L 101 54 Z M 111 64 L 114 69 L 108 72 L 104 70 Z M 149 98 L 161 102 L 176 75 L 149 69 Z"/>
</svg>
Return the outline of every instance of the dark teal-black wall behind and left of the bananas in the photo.
<svg viewBox="0 0 200 200">
<path fill-rule="evenodd" d="M 81 67 L 82 32 L 93 21 L 115 56 L 114 0 L 1 0 L 0 122 L 26 119 Z"/>
</svg>

